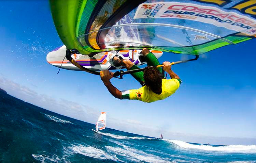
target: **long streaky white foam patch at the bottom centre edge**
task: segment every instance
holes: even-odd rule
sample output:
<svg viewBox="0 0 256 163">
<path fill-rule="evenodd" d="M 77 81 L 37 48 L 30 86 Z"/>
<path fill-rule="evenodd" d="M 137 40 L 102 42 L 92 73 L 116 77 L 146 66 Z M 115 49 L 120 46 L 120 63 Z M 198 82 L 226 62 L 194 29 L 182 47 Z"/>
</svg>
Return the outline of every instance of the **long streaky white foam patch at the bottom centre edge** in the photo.
<svg viewBox="0 0 256 163">
<path fill-rule="evenodd" d="M 157 162 L 157 163 L 171 163 L 170 160 L 163 160 L 162 158 L 155 156 L 154 154 L 148 154 L 138 149 L 130 148 L 123 145 L 121 147 L 105 146 L 108 151 L 114 152 L 117 155 L 124 156 L 132 162 Z"/>
</svg>

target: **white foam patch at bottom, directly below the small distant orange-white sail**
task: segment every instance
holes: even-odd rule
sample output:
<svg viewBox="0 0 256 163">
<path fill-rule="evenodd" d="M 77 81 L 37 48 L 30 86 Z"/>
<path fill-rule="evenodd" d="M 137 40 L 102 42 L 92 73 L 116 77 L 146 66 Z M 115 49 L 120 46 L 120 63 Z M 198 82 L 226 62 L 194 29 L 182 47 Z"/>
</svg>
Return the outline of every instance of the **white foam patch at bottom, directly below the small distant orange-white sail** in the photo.
<svg viewBox="0 0 256 163">
<path fill-rule="evenodd" d="M 102 159 L 102 160 L 118 160 L 115 155 L 111 156 L 110 154 L 104 152 L 101 149 L 97 149 L 92 146 L 84 146 L 84 145 L 73 145 L 72 147 L 68 147 L 69 151 L 72 153 L 79 153 L 87 157 Z"/>
</svg>

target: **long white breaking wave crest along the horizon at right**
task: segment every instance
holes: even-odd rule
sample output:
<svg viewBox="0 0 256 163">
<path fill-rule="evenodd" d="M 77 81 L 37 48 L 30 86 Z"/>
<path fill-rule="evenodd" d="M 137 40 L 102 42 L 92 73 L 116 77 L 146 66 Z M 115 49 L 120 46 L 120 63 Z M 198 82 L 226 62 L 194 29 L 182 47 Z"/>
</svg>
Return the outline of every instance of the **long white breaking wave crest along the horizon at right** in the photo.
<svg viewBox="0 0 256 163">
<path fill-rule="evenodd" d="M 165 140 L 182 148 L 194 148 L 209 151 L 223 151 L 223 152 L 242 152 L 242 153 L 256 153 L 256 145 L 227 145 L 227 146 L 211 146 L 211 145 L 195 145 L 179 140 Z"/>
</svg>

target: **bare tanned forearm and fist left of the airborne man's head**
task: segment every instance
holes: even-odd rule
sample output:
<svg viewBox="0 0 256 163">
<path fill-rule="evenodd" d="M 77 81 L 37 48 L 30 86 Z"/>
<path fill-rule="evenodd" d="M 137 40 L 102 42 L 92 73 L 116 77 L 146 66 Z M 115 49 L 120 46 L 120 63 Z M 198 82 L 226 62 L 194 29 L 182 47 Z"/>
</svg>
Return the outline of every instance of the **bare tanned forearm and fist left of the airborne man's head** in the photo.
<svg viewBox="0 0 256 163">
<path fill-rule="evenodd" d="M 113 78 L 113 72 L 109 72 L 109 70 L 100 71 L 100 78 L 112 96 L 119 99 L 122 98 L 122 92 L 114 87 L 110 82 L 110 79 Z"/>
</svg>

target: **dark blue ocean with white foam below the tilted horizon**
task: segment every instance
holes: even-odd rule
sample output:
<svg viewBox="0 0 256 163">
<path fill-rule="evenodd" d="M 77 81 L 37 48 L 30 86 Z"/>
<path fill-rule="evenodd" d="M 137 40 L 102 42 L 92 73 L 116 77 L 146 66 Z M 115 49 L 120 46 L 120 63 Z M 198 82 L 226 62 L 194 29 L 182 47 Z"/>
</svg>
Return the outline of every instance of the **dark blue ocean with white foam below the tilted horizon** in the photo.
<svg viewBox="0 0 256 163">
<path fill-rule="evenodd" d="M 256 145 L 147 137 L 39 108 L 0 92 L 0 163 L 256 163 Z"/>
</svg>

